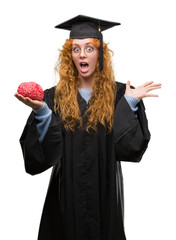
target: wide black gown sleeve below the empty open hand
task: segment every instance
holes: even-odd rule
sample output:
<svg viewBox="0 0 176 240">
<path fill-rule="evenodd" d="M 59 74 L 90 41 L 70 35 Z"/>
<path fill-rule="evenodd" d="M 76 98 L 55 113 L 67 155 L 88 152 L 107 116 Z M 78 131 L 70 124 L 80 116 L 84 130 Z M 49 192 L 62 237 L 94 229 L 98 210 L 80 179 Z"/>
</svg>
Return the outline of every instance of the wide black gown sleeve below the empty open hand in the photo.
<svg viewBox="0 0 176 240">
<path fill-rule="evenodd" d="M 136 118 L 125 97 L 120 98 L 115 108 L 113 132 L 117 161 L 139 162 L 150 140 L 142 100 L 138 103 Z"/>
</svg>

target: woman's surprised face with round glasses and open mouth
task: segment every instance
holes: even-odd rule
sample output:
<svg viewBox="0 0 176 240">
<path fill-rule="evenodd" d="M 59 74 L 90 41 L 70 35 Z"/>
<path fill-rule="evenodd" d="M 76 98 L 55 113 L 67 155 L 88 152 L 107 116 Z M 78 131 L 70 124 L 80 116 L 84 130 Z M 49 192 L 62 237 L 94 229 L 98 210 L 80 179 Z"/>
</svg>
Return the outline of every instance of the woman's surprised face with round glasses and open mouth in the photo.
<svg viewBox="0 0 176 240">
<path fill-rule="evenodd" d="M 99 51 L 90 38 L 73 39 L 72 59 L 80 77 L 89 78 L 94 76 L 98 57 Z"/>
</svg>

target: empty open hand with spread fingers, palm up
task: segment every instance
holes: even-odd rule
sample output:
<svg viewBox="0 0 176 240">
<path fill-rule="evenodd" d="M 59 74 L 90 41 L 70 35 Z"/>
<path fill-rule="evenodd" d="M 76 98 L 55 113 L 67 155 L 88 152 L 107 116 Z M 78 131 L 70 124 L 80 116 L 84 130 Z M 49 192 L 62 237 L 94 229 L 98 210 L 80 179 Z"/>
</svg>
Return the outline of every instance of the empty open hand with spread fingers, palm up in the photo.
<svg viewBox="0 0 176 240">
<path fill-rule="evenodd" d="M 161 88 L 161 83 L 147 82 L 137 88 L 130 88 L 130 81 L 126 84 L 125 95 L 135 97 L 139 100 L 145 97 L 158 97 L 156 94 L 151 94 L 150 91 Z"/>
</svg>

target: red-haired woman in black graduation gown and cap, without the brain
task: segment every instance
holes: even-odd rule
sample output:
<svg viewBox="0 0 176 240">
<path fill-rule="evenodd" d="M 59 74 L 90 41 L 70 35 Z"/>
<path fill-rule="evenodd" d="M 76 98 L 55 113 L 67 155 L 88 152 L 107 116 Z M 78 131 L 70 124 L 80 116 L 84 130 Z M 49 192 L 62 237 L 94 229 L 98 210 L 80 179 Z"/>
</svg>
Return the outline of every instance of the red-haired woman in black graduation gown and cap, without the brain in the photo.
<svg viewBox="0 0 176 240">
<path fill-rule="evenodd" d="M 101 30 L 118 23 L 78 16 L 56 70 L 60 81 L 43 102 L 15 96 L 33 111 L 20 138 L 26 171 L 53 166 L 39 240 L 125 240 L 121 161 L 139 162 L 148 130 L 142 98 L 161 84 L 136 89 L 115 82 Z"/>
</svg>

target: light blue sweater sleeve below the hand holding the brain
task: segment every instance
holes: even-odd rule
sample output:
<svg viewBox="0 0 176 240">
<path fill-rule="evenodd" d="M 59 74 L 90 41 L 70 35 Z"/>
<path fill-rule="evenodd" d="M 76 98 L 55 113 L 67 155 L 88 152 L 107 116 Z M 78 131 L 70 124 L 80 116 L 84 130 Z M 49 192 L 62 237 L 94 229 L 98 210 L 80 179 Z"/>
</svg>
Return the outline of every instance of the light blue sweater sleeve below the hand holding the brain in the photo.
<svg viewBox="0 0 176 240">
<path fill-rule="evenodd" d="M 35 119 L 37 120 L 37 132 L 39 135 L 38 138 L 39 142 L 41 143 L 51 122 L 52 111 L 45 102 L 43 107 L 33 111 L 35 112 Z"/>
</svg>

